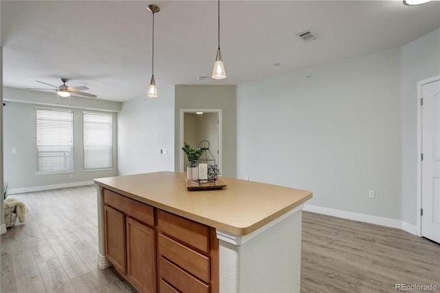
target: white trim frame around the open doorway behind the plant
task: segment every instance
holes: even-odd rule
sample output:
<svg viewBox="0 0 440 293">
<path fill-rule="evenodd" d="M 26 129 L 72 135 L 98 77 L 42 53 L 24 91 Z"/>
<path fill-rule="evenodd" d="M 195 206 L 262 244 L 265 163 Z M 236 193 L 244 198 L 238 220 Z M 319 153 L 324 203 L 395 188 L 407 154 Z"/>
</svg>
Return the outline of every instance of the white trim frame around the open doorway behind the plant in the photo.
<svg viewBox="0 0 440 293">
<path fill-rule="evenodd" d="M 203 113 L 217 113 L 217 117 L 219 119 L 219 131 L 218 131 L 218 135 L 219 135 L 219 162 L 218 162 L 218 166 L 220 171 L 223 170 L 221 169 L 222 166 L 222 161 L 223 161 L 223 123 L 222 123 L 222 117 L 221 117 L 221 109 L 180 109 L 180 115 L 179 115 L 179 119 L 180 119 L 180 123 L 179 123 L 179 171 L 180 172 L 184 172 L 184 158 L 185 156 L 181 154 L 181 147 L 183 146 L 183 142 L 184 142 L 184 129 L 185 129 L 185 113 L 196 113 L 196 112 L 203 112 Z M 221 175 L 220 175 L 221 176 Z"/>
</svg>

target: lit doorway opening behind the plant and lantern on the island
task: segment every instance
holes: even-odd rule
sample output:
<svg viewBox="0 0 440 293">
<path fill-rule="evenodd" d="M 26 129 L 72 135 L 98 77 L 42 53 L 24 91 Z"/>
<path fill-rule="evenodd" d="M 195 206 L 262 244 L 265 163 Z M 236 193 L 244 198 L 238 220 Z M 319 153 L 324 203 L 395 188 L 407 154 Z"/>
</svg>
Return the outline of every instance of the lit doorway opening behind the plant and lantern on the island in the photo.
<svg viewBox="0 0 440 293">
<path fill-rule="evenodd" d="M 202 140 L 208 140 L 210 143 L 210 152 L 221 171 L 221 133 L 221 109 L 180 109 L 179 171 L 186 171 L 188 166 L 188 160 L 186 160 L 186 156 L 180 149 L 184 141 L 197 149 L 197 145 Z"/>
</svg>

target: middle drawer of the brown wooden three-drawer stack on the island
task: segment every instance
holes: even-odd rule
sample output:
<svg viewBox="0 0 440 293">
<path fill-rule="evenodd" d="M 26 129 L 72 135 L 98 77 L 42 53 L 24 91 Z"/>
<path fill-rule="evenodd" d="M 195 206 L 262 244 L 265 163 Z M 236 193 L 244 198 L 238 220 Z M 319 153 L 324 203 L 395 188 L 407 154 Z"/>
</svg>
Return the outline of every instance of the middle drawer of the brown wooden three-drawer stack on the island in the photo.
<svg viewBox="0 0 440 293">
<path fill-rule="evenodd" d="M 181 243 L 174 241 L 162 234 L 159 234 L 159 256 L 163 256 L 169 261 L 184 268 L 184 270 L 194 274 L 202 281 L 210 281 L 210 261 L 209 257 L 196 252 Z"/>
</svg>

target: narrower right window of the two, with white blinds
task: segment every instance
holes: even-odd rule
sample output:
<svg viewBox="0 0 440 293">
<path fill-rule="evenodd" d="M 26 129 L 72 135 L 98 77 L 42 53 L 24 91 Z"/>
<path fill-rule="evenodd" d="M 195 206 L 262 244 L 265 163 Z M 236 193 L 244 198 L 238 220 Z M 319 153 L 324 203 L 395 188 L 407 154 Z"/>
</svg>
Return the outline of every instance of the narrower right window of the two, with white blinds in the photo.
<svg viewBox="0 0 440 293">
<path fill-rule="evenodd" d="M 84 169 L 113 167 L 113 115 L 83 112 Z"/>
</svg>

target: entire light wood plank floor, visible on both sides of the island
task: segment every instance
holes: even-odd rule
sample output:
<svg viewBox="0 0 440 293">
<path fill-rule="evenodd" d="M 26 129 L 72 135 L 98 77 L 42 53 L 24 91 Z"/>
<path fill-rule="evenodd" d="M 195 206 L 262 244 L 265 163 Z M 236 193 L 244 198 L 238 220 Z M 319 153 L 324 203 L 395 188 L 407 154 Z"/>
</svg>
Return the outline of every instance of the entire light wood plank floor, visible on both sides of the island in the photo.
<svg viewBox="0 0 440 293">
<path fill-rule="evenodd" d="M 1 235 L 1 292 L 134 292 L 96 266 L 94 186 L 11 197 L 30 214 Z M 401 230 L 304 212 L 302 252 L 302 293 L 440 291 L 440 245 Z"/>
</svg>

